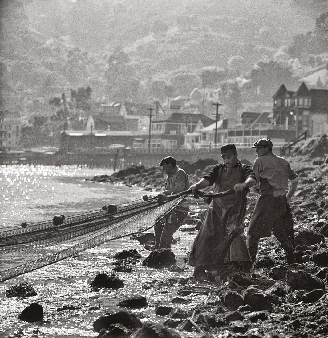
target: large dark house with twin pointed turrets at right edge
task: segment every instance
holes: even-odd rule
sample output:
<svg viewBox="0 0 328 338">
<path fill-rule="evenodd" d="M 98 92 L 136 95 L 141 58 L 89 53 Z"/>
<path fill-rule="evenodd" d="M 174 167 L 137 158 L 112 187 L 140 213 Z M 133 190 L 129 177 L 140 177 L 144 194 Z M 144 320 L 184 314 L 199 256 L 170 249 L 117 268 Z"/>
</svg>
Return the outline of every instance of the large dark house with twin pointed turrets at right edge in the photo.
<svg viewBox="0 0 328 338">
<path fill-rule="evenodd" d="M 308 89 L 304 82 L 296 92 L 282 84 L 273 95 L 275 124 L 293 126 L 295 136 L 307 131 L 309 136 L 326 132 L 328 123 L 328 90 Z"/>
</svg>

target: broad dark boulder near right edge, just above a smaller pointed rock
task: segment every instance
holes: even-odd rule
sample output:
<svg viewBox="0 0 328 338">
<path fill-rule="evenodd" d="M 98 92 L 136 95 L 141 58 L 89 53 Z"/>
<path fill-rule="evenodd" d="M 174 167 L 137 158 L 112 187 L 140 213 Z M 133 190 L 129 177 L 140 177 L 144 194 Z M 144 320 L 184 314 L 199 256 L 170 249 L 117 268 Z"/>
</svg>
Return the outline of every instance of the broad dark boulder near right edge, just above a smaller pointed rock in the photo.
<svg viewBox="0 0 328 338">
<path fill-rule="evenodd" d="M 295 290 L 295 289 L 305 289 L 305 290 L 313 290 L 313 289 L 324 289 L 324 282 L 303 270 L 292 271 L 288 270 L 286 273 L 287 283 Z"/>
</svg>

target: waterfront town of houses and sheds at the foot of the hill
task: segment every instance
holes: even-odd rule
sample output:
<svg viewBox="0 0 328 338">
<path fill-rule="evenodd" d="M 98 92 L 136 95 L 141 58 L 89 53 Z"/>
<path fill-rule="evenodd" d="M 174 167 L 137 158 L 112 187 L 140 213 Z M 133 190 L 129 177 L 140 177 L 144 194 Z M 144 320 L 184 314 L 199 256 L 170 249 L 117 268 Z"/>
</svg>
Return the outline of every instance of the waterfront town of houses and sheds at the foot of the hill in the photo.
<svg viewBox="0 0 328 338">
<path fill-rule="evenodd" d="M 204 93 L 198 89 L 165 104 L 98 102 L 90 113 L 67 114 L 60 132 L 48 131 L 52 144 L 29 147 L 24 145 L 22 115 L 5 111 L 0 121 L 1 155 L 60 152 L 81 156 L 119 153 L 120 149 L 161 155 L 210 151 L 225 143 L 246 149 L 259 138 L 269 138 L 282 148 L 302 135 L 314 137 L 328 130 L 328 90 L 311 89 L 304 82 L 295 92 L 281 84 L 272 93 L 271 107 L 266 104 L 267 111 L 262 112 L 236 110 L 233 116 L 225 116 L 219 97 L 218 91 L 207 93 L 206 109 Z M 63 100 L 57 105 L 64 105 Z"/>
</svg>

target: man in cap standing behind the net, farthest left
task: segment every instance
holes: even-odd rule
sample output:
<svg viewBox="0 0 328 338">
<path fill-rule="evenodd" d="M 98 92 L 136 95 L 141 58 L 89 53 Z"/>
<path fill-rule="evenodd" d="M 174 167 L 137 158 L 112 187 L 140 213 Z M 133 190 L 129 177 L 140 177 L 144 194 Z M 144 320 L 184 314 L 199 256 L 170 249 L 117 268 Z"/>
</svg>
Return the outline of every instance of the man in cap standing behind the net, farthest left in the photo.
<svg viewBox="0 0 328 338">
<path fill-rule="evenodd" d="M 160 195 L 172 195 L 189 189 L 188 174 L 177 166 L 176 159 L 172 156 L 163 158 L 159 165 L 167 173 L 165 188 Z M 164 219 L 154 224 L 155 248 L 171 248 L 173 234 L 178 230 L 187 217 L 189 204 L 182 201 Z"/>
</svg>

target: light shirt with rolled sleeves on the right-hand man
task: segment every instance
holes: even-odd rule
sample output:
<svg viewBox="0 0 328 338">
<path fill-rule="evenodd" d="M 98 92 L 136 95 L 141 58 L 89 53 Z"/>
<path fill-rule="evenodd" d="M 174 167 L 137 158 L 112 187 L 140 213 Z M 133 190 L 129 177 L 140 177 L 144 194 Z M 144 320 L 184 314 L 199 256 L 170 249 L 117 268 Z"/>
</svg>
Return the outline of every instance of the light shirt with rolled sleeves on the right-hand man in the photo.
<svg viewBox="0 0 328 338">
<path fill-rule="evenodd" d="M 273 188 L 274 197 L 286 195 L 288 182 L 298 182 L 298 175 L 290 167 L 289 162 L 272 152 L 256 158 L 252 169 L 256 175 L 257 185 L 260 178 L 266 178 Z"/>
</svg>

